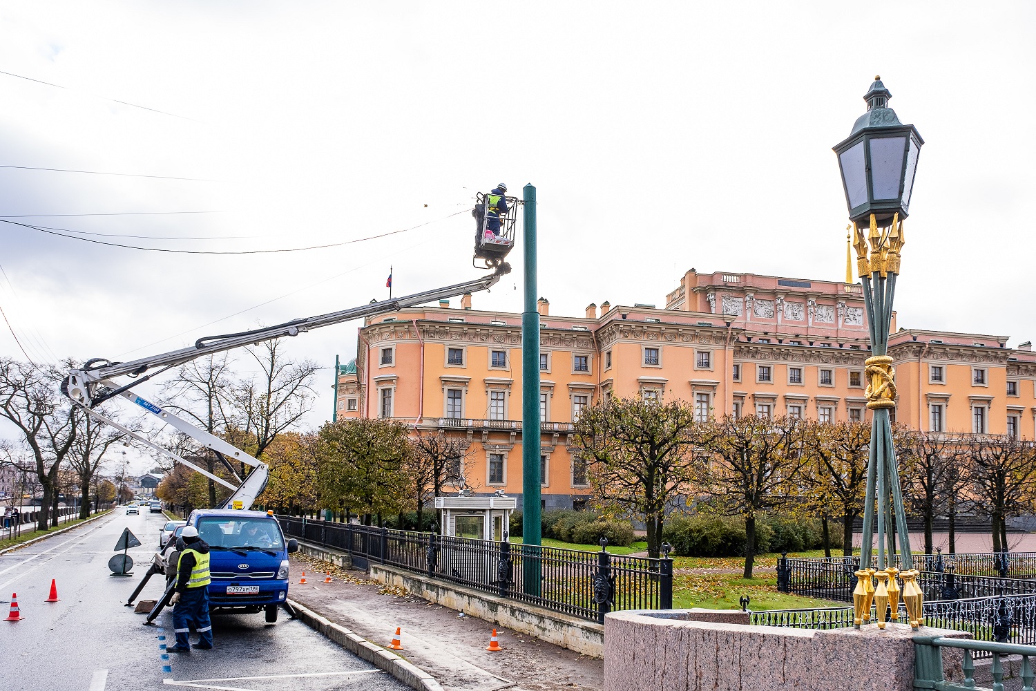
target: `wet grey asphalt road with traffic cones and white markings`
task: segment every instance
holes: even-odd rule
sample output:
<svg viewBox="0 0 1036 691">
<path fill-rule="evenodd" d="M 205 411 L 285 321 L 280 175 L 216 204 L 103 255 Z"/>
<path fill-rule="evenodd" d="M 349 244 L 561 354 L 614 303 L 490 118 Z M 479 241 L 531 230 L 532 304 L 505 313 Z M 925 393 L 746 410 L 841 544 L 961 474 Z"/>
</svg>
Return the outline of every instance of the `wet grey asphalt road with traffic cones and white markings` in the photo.
<svg viewBox="0 0 1036 691">
<path fill-rule="evenodd" d="M 18 594 L 21 622 L 0 622 L 0 690 L 118 691 L 175 687 L 232 691 L 402 690 L 408 687 L 343 651 L 284 610 L 275 625 L 258 614 L 213 614 L 215 650 L 160 658 L 159 627 L 173 643 L 171 610 L 142 626 L 144 614 L 122 603 L 157 547 L 161 514 L 114 516 L 0 555 L 3 615 Z M 134 576 L 109 576 L 108 559 L 124 527 L 144 543 L 130 550 Z M 51 579 L 60 602 L 47 603 Z M 153 576 L 140 599 L 156 599 Z M 2 618 L 2 617 L 0 617 Z M 192 634 L 192 641 L 197 636 Z M 169 664 L 172 672 L 164 672 Z M 257 679 L 265 678 L 265 679 Z M 218 681 L 219 680 L 219 681 Z"/>
</svg>

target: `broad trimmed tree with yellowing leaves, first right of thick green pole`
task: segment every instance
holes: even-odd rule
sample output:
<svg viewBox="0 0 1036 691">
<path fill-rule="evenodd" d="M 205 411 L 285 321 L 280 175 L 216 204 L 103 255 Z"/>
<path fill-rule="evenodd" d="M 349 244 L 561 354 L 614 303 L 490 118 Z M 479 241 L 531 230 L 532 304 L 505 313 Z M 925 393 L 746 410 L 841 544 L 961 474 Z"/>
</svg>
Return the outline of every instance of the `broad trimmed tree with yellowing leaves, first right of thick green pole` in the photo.
<svg viewBox="0 0 1036 691">
<path fill-rule="evenodd" d="M 648 554 L 659 556 L 668 510 L 691 492 L 693 453 L 706 424 L 685 401 L 613 398 L 583 409 L 576 439 L 599 502 L 644 521 Z"/>
</svg>

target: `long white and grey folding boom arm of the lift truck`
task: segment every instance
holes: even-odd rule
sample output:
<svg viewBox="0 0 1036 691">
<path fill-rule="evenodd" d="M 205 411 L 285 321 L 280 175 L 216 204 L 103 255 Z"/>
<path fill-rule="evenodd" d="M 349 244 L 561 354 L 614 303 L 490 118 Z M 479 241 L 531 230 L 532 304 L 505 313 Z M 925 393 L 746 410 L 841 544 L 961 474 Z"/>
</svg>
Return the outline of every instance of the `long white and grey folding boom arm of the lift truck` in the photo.
<svg viewBox="0 0 1036 691">
<path fill-rule="evenodd" d="M 249 509 L 266 486 L 266 480 L 269 474 L 268 466 L 259 459 L 246 454 L 240 449 L 227 443 L 220 437 L 209 434 L 205 430 L 176 415 L 172 411 L 163 409 L 143 397 L 134 394 L 131 391 L 134 386 L 147 381 L 153 376 L 167 372 L 174 367 L 179 367 L 180 365 L 190 363 L 198 357 L 204 357 L 205 355 L 233 350 L 234 348 L 240 348 L 241 346 L 254 345 L 262 343 L 263 341 L 283 338 L 285 336 L 298 336 L 303 332 L 320 328 L 321 326 L 330 326 L 333 324 L 352 321 L 353 319 L 362 319 L 388 312 L 397 312 L 408 307 L 416 307 L 419 305 L 424 305 L 425 303 L 437 299 L 447 299 L 463 295 L 464 293 L 487 290 L 496 284 L 496 282 L 510 270 L 511 266 L 507 263 L 502 263 L 496 267 L 496 270 L 493 271 L 493 273 L 474 281 L 467 281 L 466 283 L 458 283 L 443 288 L 427 290 L 425 292 L 397 297 L 395 299 L 370 303 L 369 305 L 364 305 L 363 307 L 332 312 L 315 317 L 292 319 L 291 321 L 287 321 L 283 324 L 277 324 L 275 326 L 264 326 L 262 328 L 256 328 L 249 332 L 202 338 L 195 342 L 193 348 L 181 348 L 179 350 L 173 350 L 171 352 L 152 355 L 150 357 L 142 357 L 128 363 L 112 363 L 104 358 L 89 359 L 83 365 L 83 367 L 68 372 L 68 376 L 61 382 L 61 392 L 71 399 L 73 403 L 82 407 L 87 414 L 96 418 L 103 423 L 111 425 L 120 432 L 133 437 L 144 445 L 153 449 L 160 454 L 197 470 L 209 480 L 234 490 L 233 494 L 230 495 L 222 508 L 232 507 L 235 509 Z M 146 374 L 149 370 L 155 371 Z M 130 377 L 131 380 L 128 382 L 125 382 L 124 380 L 120 381 L 119 378 L 121 377 Z M 95 409 L 96 406 L 113 398 L 122 398 L 139 405 L 157 418 L 164 425 L 170 425 L 177 431 L 186 434 L 195 441 L 211 449 L 217 458 L 219 458 L 220 461 L 223 462 L 223 464 L 234 476 L 234 478 L 240 482 L 240 485 L 234 486 L 223 478 L 195 465 L 172 451 L 154 443 L 143 435 L 127 429 L 115 421 L 109 420 L 102 412 Z M 227 459 L 242 462 L 255 469 L 249 473 L 243 481 L 241 481 Z"/>
</svg>

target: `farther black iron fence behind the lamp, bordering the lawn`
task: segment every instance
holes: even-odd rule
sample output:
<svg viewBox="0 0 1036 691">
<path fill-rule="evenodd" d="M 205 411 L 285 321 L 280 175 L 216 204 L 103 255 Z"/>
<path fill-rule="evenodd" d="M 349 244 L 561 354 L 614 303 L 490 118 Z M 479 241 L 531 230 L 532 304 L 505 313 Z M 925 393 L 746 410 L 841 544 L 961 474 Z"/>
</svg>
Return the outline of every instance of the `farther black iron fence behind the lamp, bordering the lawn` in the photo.
<svg viewBox="0 0 1036 691">
<path fill-rule="evenodd" d="M 832 559 L 782 556 L 777 560 L 777 588 L 783 593 L 853 602 L 857 583 L 854 574 L 859 565 L 858 556 Z M 926 564 L 915 563 L 915 567 L 920 566 Z M 938 564 L 937 567 L 945 570 L 920 571 L 917 578 L 926 602 L 1036 594 L 1036 580 L 961 574 L 955 572 L 954 565 Z"/>
</svg>

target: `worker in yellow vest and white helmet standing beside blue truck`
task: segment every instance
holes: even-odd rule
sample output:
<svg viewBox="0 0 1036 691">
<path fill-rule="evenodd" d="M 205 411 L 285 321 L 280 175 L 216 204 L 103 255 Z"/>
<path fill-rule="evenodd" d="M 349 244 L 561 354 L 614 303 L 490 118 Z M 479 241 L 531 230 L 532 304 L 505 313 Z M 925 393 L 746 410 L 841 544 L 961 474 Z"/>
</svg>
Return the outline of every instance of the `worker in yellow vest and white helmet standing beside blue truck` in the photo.
<svg viewBox="0 0 1036 691">
<path fill-rule="evenodd" d="M 198 528 L 188 525 L 180 534 L 184 549 L 180 552 L 177 569 L 176 592 L 173 594 L 173 629 L 176 644 L 168 653 L 186 653 L 191 650 L 188 635 L 194 624 L 200 640 L 195 647 L 212 649 L 212 623 L 208 618 L 208 544 L 198 537 Z"/>
</svg>

